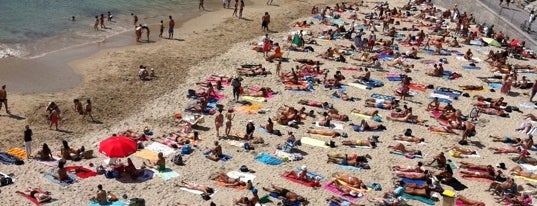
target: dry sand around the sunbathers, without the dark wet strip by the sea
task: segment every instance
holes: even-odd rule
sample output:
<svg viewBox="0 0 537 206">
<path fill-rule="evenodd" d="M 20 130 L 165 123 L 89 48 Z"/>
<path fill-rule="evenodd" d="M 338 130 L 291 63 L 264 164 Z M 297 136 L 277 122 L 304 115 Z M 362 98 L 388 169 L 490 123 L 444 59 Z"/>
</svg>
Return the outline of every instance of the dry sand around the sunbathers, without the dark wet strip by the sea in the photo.
<svg viewBox="0 0 537 206">
<path fill-rule="evenodd" d="M 272 15 L 271 29 L 281 31 L 281 33 L 273 33 L 270 36 L 276 42 L 283 43 L 282 39 L 287 36 L 289 27 L 292 27 L 293 22 L 301 19 L 309 14 L 312 5 L 323 3 L 324 5 L 333 6 L 335 1 L 283 1 L 277 2 L 279 6 L 265 6 L 263 2 L 252 3 L 247 2 L 245 8 L 245 17 L 252 21 L 242 21 L 236 18 L 229 18 L 231 10 L 221 10 L 202 15 L 192 21 L 189 21 L 179 29 L 179 34 L 176 37 L 184 39 L 184 41 L 168 41 L 161 40 L 155 44 L 136 45 L 127 48 L 118 48 L 101 51 L 91 57 L 73 62 L 71 65 L 77 72 L 84 77 L 83 85 L 80 88 L 72 91 L 65 91 L 54 94 L 34 94 L 34 95 L 17 95 L 10 94 L 10 104 L 14 104 L 12 112 L 21 116 L 21 118 L 7 118 L 5 115 L 0 118 L 0 128 L 3 137 L 0 143 L 0 148 L 7 149 L 10 147 L 20 147 L 22 145 L 22 131 L 25 124 L 30 124 L 34 129 L 35 140 L 34 150 L 37 150 L 38 145 L 43 142 L 48 142 L 54 151 L 59 150 L 60 140 L 66 139 L 72 147 L 86 146 L 97 150 L 95 146 L 102 139 L 125 129 L 142 130 L 145 126 L 153 129 L 153 132 L 160 136 L 162 134 L 175 131 L 172 115 L 176 112 L 182 112 L 183 109 L 191 102 L 186 99 L 187 89 L 196 88 L 195 82 L 203 81 L 210 74 L 235 74 L 234 68 L 241 64 L 263 64 L 266 68 L 274 71 L 275 65 L 266 62 L 261 53 L 256 53 L 251 50 L 251 43 L 260 41 L 262 32 L 259 28 L 259 21 L 262 13 L 268 11 Z M 393 3 L 396 6 L 403 5 L 404 1 Z M 369 4 L 373 6 L 373 4 Z M 347 18 L 349 14 L 344 14 Z M 309 18 L 307 18 L 309 20 Z M 317 22 L 317 21 L 315 21 Z M 405 24 L 403 24 L 405 25 Z M 408 25 L 408 23 L 406 24 Z M 326 26 L 313 26 L 309 30 L 313 33 L 328 28 Z M 293 29 L 296 30 L 296 29 Z M 369 32 L 367 32 L 369 35 Z M 378 39 L 386 38 L 378 36 Z M 294 58 L 312 58 L 328 47 L 334 47 L 336 44 L 350 45 L 350 41 L 319 41 L 320 46 L 314 46 L 315 53 L 298 53 L 285 51 L 284 56 Z M 476 56 L 485 59 L 483 54 L 476 51 L 476 47 L 463 46 L 457 50 L 464 52 L 471 48 Z M 401 48 L 406 51 L 409 48 Z M 438 56 L 430 56 L 420 53 L 424 59 L 436 60 Z M 463 78 L 448 81 L 438 78 L 433 78 L 425 75 L 429 71 L 430 66 L 415 62 L 416 71 L 410 73 L 414 82 L 423 84 L 434 84 L 436 87 L 444 86 L 457 88 L 457 85 L 466 84 L 483 84 L 478 81 L 477 76 L 489 76 L 489 66 L 486 63 L 480 63 L 483 69 L 464 70 L 462 65 L 467 64 L 455 59 L 455 56 L 448 56 L 449 64 L 446 69 L 456 71 L 462 74 Z M 321 59 L 318 59 L 321 60 Z M 356 62 L 349 60 L 350 62 Z M 510 60 L 512 61 L 512 60 Z M 514 61 L 513 61 L 514 62 Z M 331 73 L 335 72 L 335 68 L 340 66 L 348 66 L 348 64 L 324 61 L 322 68 L 331 69 Z M 154 81 L 141 82 L 138 81 L 135 74 L 137 66 L 140 64 L 154 67 L 159 78 Z M 289 71 L 296 64 L 294 62 L 284 63 L 283 71 Z M 383 65 L 385 67 L 385 64 Z M 392 70 L 387 68 L 386 70 Z M 350 75 L 355 73 L 343 72 L 350 78 Z M 234 120 L 232 131 L 244 131 L 244 125 L 249 119 L 252 119 L 256 124 L 265 124 L 268 117 L 273 117 L 277 113 L 277 109 L 283 104 L 298 107 L 296 102 L 298 99 L 315 99 L 318 101 L 328 101 L 336 105 L 336 108 L 343 113 L 349 114 L 352 108 L 364 108 L 363 99 L 369 97 L 372 93 L 392 94 L 393 90 L 398 87 L 397 82 L 389 82 L 385 79 L 385 73 L 373 72 L 374 79 L 381 79 L 385 86 L 375 88 L 371 91 L 358 90 L 348 87 L 349 95 L 359 97 L 362 100 L 358 102 L 343 102 L 333 99 L 331 91 L 325 91 L 320 86 L 316 87 L 316 91 L 311 95 L 296 95 L 286 92 L 279 79 L 275 75 L 267 77 L 246 77 L 243 81 L 244 86 L 262 85 L 269 86 L 275 91 L 282 92 L 281 95 L 276 95 L 268 102 L 261 103 L 263 109 L 269 110 L 267 114 L 246 115 L 237 113 Z M 531 77 L 530 77 L 531 78 Z M 518 89 L 513 89 L 514 92 L 520 93 L 519 96 L 504 96 L 499 92 L 476 93 L 489 97 L 504 96 L 510 104 L 517 105 L 518 102 L 526 102 L 527 96 L 522 95 L 523 92 Z M 424 111 L 428 103 L 428 96 L 431 91 L 419 93 L 411 101 L 405 103 L 414 108 L 414 111 L 420 118 L 429 120 L 428 124 L 436 125 L 436 121 L 429 118 L 429 114 Z M 231 90 L 226 87 L 224 90 L 226 98 L 221 102 L 225 108 L 237 106 L 231 101 Z M 74 114 L 70 109 L 70 103 L 73 98 L 91 98 L 94 102 L 95 116 L 100 122 L 92 124 L 83 120 Z M 59 103 L 62 108 L 64 119 L 61 128 L 66 132 L 49 131 L 43 117 L 44 107 L 48 101 Z M 462 98 L 455 101 L 454 106 L 460 108 L 463 113 L 467 114 L 471 110 L 471 98 Z M 310 108 L 307 108 L 308 110 Z M 522 109 L 525 113 L 530 112 L 527 109 Z M 1 111 L 0 111 L 1 112 Z M 381 112 L 383 116 L 389 115 L 388 112 Z M 503 147 L 500 143 L 493 143 L 488 138 L 489 135 L 510 135 L 523 137 L 516 133 L 513 128 L 516 128 L 523 122 L 521 114 L 516 112 L 511 113 L 510 118 L 500 118 L 488 115 L 480 117 L 482 122 L 477 126 L 477 137 L 472 138 L 475 144 L 467 146 L 470 149 L 479 151 L 481 158 L 469 158 L 464 161 L 480 164 L 496 164 L 505 162 L 508 168 L 514 166 L 514 163 L 508 160 L 505 155 L 494 155 L 485 147 Z M 350 115 L 350 122 L 358 123 L 356 116 Z M 427 128 L 417 125 L 410 125 L 400 122 L 390 122 L 384 120 L 384 124 L 388 130 L 382 133 L 356 133 L 351 131 L 350 126 L 345 126 L 345 131 L 349 133 L 351 140 L 365 139 L 371 135 L 379 135 L 382 143 L 378 149 L 360 150 L 348 147 L 338 147 L 337 149 L 323 149 L 318 147 L 310 147 L 303 145 L 299 147 L 301 151 L 307 153 L 304 160 L 298 162 L 289 162 L 280 166 L 268 166 L 253 160 L 258 152 L 272 152 L 275 150 L 275 145 L 284 141 L 284 138 L 270 137 L 256 131 L 256 135 L 261 136 L 269 143 L 268 146 L 256 148 L 255 152 L 240 152 L 240 148 L 227 145 L 222 142 L 224 153 L 232 155 L 233 159 L 227 163 L 208 161 L 202 156 L 202 152 L 212 146 L 215 137 L 215 130 L 212 129 L 214 117 L 207 117 L 202 126 L 211 128 L 208 131 L 201 131 L 201 137 L 205 141 L 201 142 L 199 150 L 195 151 L 187 166 L 178 167 L 172 165 L 169 160 L 167 165 L 180 174 L 180 178 L 172 179 L 168 182 L 163 182 L 159 178 L 146 181 L 144 183 L 128 184 L 121 183 L 117 180 L 106 179 L 104 176 L 84 179 L 80 182 L 70 185 L 66 188 L 60 188 L 55 184 L 51 184 L 42 177 L 42 173 L 52 170 L 48 167 L 34 161 L 27 162 L 23 166 L 0 165 L 0 171 L 4 173 L 15 173 L 17 182 L 8 187 L 2 187 L 0 193 L 0 204 L 11 205 L 17 202 L 17 205 L 29 204 L 24 198 L 16 195 L 14 191 L 23 190 L 27 187 L 41 187 L 52 192 L 52 196 L 57 198 L 55 204 L 66 205 L 85 205 L 88 199 L 96 191 L 97 184 L 103 184 L 106 190 L 110 190 L 116 194 L 127 194 L 129 198 L 140 197 L 146 199 L 148 205 L 173 205 L 174 203 L 189 203 L 207 205 L 208 202 L 191 193 L 180 191 L 174 185 L 181 180 L 196 182 L 202 185 L 214 186 L 208 176 L 217 171 L 232 171 L 237 170 L 241 165 L 247 165 L 251 169 L 257 171 L 257 178 L 254 181 L 254 186 L 260 189 L 268 187 L 270 184 L 284 186 L 291 191 L 295 191 L 307 197 L 311 205 L 326 204 L 325 198 L 332 194 L 323 189 L 311 189 L 280 178 L 279 176 L 286 170 L 291 170 L 301 165 L 307 165 L 308 169 L 325 177 L 330 177 L 333 173 L 347 173 L 358 176 L 366 183 L 370 184 L 378 182 L 383 186 L 382 192 L 371 192 L 367 196 L 380 197 L 383 192 L 392 187 L 392 178 L 394 173 L 388 169 L 389 166 L 395 164 L 415 165 L 417 161 L 430 161 L 431 157 L 442 150 L 444 146 L 450 146 L 459 140 L 459 136 L 449 135 L 441 136 L 427 132 Z M 305 131 L 308 127 L 313 126 L 314 119 L 308 119 L 300 129 L 292 129 L 278 126 L 283 133 L 293 131 L 297 137 L 308 136 Z M 5 126 L 4 126 L 5 125 Z M 394 145 L 391 137 L 393 135 L 402 134 L 406 128 L 412 128 L 414 134 L 418 137 L 424 137 L 427 145 L 412 146 L 412 148 L 420 149 L 424 152 L 423 160 L 410 160 L 401 156 L 394 156 L 388 153 L 386 147 Z M 326 139 L 328 140 L 328 139 Z M 343 139 L 335 139 L 339 144 Z M 362 170 L 360 172 L 350 172 L 335 165 L 326 164 L 326 154 L 329 152 L 341 152 L 348 154 L 370 154 L 373 160 L 370 161 L 371 169 Z M 104 160 L 104 156 L 98 154 L 97 158 L 84 160 L 81 162 L 69 162 L 68 165 L 82 165 L 88 167 L 89 163 L 100 164 Z M 137 157 L 132 158 L 135 165 L 140 165 L 142 159 Z M 453 158 L 450 158 L 453 159 Z M 460 159 L 453 159 L 460 161 Z M 469 188 L 461 191 L 460 194 L 470 198 L 485 201 L 487 204 L 493 205 L 494 200 L 485 192 L 488 187 L 485 183 L 471 182 L 458 178 Z M 523 184 L 517 180 L 519 184 Z M 232 199 L 239 198 L 245 195 L 250 196 L 246 190 L 236 191 L 234 189 L 216 186 L 218 192 L 213 196 L 212 201 L 217 205 L 231 205 Z M 449 188 L 446 186 L 446 188 Z M 266 194 L 260 191 L 260 195 Z M 362 198 L 359 203 L 369 205 L 366 198 Z M 411 201 L 412 205 L 420 203 Z M 440 204 L 440 203 L 438 203 Z"/>
</svg>

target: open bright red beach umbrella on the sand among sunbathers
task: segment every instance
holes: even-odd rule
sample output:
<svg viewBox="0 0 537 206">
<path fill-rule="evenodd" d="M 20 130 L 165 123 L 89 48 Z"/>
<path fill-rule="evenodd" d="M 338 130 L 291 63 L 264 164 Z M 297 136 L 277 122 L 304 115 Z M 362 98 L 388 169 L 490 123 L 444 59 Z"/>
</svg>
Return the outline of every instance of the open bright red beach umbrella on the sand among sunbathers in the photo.
<svg viewBox="0 0 537 206">
<path fill-rule="evenodd" d="M 138 145 L 125 136 L 112 136 L 99 144 L 99 152 L 110 158 L 123 158 L 136 152 Z"/>
</svg>

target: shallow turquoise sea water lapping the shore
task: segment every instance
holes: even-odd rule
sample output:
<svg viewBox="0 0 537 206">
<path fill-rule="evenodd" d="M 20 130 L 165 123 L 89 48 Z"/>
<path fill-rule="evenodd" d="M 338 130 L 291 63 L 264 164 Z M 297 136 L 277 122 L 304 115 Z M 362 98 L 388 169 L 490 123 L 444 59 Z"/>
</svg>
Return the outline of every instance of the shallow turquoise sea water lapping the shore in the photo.
<svg viewBox="0 0 537 206">
<path fill-rule="evenodd" d="M 178 21 L 198 11 L 197 0 L 0 0 L 0 10 L 0 58 L 35 58 L 104 41 L 133 29 L 130 13 L 139 23 L 155 25 L 169 15 Z M 106 21 L 108 11 L 113 22 Z M 100 14 L 109 29 L 94 31 L 94 18 Z"/>
</svg>

